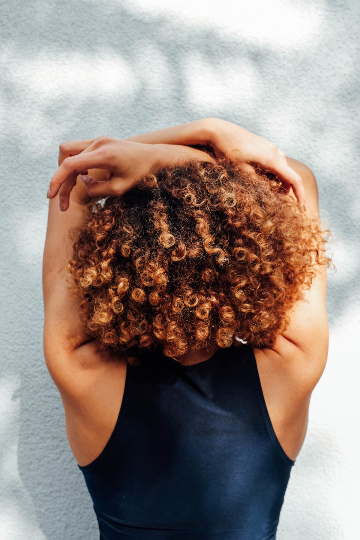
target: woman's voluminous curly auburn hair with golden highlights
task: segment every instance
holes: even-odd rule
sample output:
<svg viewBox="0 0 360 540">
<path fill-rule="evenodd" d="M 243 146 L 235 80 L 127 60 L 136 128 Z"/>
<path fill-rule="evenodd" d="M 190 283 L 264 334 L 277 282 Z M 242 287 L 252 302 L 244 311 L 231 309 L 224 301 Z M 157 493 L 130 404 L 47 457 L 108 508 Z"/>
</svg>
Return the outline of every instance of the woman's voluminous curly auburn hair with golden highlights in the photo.
<svg viewBox="0 0 360 540">
<path fill-rule="evenodd" d="M 330 261 L 320 222 L 277 180 L 189 161 L 87 204 L 66 271 L 100 348 L 137 363 L 159 345 L 175 360 L 209 340 L 270 347 L 310 288 L 314 252 Z"/>
</svg>

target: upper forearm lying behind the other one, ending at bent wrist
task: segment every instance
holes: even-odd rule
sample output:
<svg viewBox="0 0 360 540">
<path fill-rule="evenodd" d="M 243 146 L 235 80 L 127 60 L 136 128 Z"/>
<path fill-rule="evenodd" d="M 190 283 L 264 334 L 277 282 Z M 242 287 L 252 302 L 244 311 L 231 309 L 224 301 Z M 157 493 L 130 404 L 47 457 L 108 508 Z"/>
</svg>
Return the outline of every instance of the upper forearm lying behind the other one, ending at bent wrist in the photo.
<svg viewBox="0 0 360 540">
<path fill-rule="evenodd" d="M 179 144 L 185 146 L 206 145 L 211 146 L 216 134 L 218 118 L 204 118 L 194 120 L 180 126 L 166 127 L 158 131 L 142 133 L 125 140 L 147 144 Z"/>
</svg>

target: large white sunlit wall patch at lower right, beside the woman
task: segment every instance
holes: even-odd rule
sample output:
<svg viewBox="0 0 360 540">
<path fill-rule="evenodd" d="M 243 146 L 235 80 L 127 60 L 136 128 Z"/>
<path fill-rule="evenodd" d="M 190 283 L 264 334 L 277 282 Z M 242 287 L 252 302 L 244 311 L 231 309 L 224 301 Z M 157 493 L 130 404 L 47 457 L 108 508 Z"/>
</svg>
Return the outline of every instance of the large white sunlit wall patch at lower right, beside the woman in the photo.
<svg viewBox="0 0 360 540">
<path fill-rule="evenodd" d="M 329 489 L 329 499 L 333 505 L 335 502 L 338 519 L 342 519 L 342 538 L 349 540 L 355 538 L 352 534 L 358 529 L 357 506 L 360 498 L 360 485 L 353 482 L 354 478 L 360 477 L 357 453 L 360 444 L 360 431 L 357 429 L 359 331 L 360 299 L 354 301 L 330 332 L 327 366 L 311 397 L 309 415 L 313 431 L 317 431 L 317 426 L 322 424 L 323 428 L 334 433 L 333 442 L 339 454 L 326 464 L 324 483 L 327 491 L 332 487 L 331 495 Z M 315 414 L 316 420 L 311 420 Z M 323 457 L 329 456 L 327 444 L 318 444 L 316 451 L 321 453 L 322 462 Z M 352 486 L 352 491 L 349 491 L 349 486 Z"/>
</svg>

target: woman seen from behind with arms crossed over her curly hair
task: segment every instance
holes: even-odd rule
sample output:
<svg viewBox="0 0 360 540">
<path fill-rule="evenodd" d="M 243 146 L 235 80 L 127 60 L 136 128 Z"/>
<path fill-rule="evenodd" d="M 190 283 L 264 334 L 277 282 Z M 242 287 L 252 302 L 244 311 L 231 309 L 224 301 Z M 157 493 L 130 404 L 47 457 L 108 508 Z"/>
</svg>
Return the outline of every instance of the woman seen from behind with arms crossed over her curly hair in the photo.
<svg viewBox="0 0 360 540">
<path fill-rule="evenodd" d="M 60 145 L 48 197 L 45 360 L 100 538 L 275 538 L 328 352 L 313 174 L 208 118 Z"/>
</svg>

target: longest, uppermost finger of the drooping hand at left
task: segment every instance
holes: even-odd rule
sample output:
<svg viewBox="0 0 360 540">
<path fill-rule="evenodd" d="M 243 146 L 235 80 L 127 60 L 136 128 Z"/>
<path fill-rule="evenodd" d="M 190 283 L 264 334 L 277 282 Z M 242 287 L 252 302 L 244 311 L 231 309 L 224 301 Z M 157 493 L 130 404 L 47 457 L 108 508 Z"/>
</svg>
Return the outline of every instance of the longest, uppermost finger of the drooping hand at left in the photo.
<svg viewBox="0 0 360 540">
<path fill-rule="evenodd" d="M 50 197 L 53 199 L 58 194 L 60 187 L 71 177 L 73 173 L 87 174 L 90 168 L 103 168 L 111 170 L 110 156 L 101 150 L 93 152 L 81 152 L 76 156 L 65 158 L 63 163 L 50 180 Z"/>
</svg>

